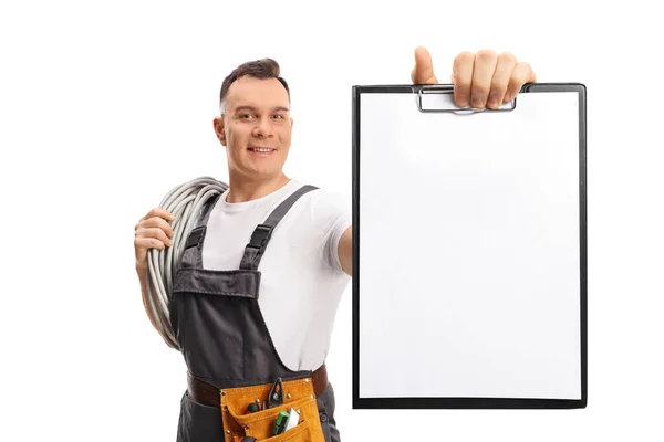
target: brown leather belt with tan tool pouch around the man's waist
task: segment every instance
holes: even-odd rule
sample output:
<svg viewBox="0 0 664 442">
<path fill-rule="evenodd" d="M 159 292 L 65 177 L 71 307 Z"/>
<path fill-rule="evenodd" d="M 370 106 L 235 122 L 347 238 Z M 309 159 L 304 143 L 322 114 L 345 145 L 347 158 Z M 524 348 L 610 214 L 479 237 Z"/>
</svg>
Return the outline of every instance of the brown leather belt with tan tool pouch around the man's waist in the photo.
<svg viewBox="0 0 664 442">
<path fill-rule="evenodd" d="M 191 399 L 220 408 L 225 442 L 324 442 L 317 398 L 326 387 L 324 364 L 308 378 L 224 389 L 188 375 Z M 276 434 L 282 411 L 297 413 L 298 423 Z"/>
</svg>

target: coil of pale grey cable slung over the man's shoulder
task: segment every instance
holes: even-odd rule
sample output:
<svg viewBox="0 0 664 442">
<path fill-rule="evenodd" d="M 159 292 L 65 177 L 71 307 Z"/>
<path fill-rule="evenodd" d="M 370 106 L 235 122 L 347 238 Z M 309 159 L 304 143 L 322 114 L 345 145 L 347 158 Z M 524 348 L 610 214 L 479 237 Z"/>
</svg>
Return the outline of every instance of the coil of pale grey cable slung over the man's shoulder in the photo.
<svg viewBox="0 0 664 442">
<path fill-rule="evenodd" d="M 173 276 L 180 263 L 181 253 L 189 233 L 200 217 L 206 201 L 228 189 L 228 185 L 211 177 L 199 177 L 176 186 L 159 203 L 175 220 L 173 243 L 164 250 L 148 249 L 147 253 L 147 299 L 143 299 L 153 326 L 166 344 L 179 350 L 170 324 L 169 305 L 173 298 Z"/>
</svg>

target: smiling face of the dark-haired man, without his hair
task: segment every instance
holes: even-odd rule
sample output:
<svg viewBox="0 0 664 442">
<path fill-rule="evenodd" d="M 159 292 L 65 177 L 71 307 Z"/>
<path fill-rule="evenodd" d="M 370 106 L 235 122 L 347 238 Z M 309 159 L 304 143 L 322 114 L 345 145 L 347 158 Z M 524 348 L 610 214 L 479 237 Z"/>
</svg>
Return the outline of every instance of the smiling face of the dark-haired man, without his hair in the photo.
<svg viewBox="0 0 664 442">
<path fill-rule="evenodd" d="M 236 80 L 228 90 L 225 115 L 215 118 L 229 168 L 250 179 L 281 173 L 292 126 L 288 92 L 277 78 Z"/>
</svg>

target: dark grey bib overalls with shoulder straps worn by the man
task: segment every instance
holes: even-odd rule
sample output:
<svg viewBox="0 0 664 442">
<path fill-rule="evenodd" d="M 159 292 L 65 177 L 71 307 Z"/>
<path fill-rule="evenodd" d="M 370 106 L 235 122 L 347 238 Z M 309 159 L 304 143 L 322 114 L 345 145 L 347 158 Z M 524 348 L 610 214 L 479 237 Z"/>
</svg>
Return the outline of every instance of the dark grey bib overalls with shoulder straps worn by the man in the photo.
<svg viewBox="0 0 664 442">
<path fill-rule="evenodd" d="M 256 228 L 237 270 L 203 267 L 207 221 L 220 194 L 206 201 L 187 238 L 174 276 L 169 307 L 188 376 L 225 389 L 271 383 L 278 377 L 287 381 L 312 375 L 311 370 L 290 370 L 277 354 L 258 304 L 261 277 L 258 266 L 274 227 L 302 194 L 314 189 L 302 186 Z M 325 441 L 339 442 L 330 383 L 315 397 L 315 403 Z M 230 430 L 224 428 L 220 407 L 195 401 L 187 389 L 180 400 L 177 442 L 222 442 L 225 431 Z M 282 435 L 290 431 L 294 430 Z"/>
</svg>

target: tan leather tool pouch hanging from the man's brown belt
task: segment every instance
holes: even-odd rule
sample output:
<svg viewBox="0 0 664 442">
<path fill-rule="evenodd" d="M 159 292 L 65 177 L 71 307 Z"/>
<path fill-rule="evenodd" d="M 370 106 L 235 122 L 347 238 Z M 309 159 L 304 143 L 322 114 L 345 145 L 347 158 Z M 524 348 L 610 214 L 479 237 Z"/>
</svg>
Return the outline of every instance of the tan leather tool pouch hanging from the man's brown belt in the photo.
<svg viewBox="0 0 664 442">
<path fill-rule="evenodd" d="M 247 411 L 252 402 L 259 407 L 267 402 L 271 388 L 271 383 L 266 383 L 221 390 L 225 442 L 237 442 L 243 436 L 259 442 L 325 442 L 311 378 L 284 381 L 283 404 L 253 413 Z M 274 435 L 279 412 L 289 412 L 291 408 L 299 411 L 298 425 Z"/>
</svg>

